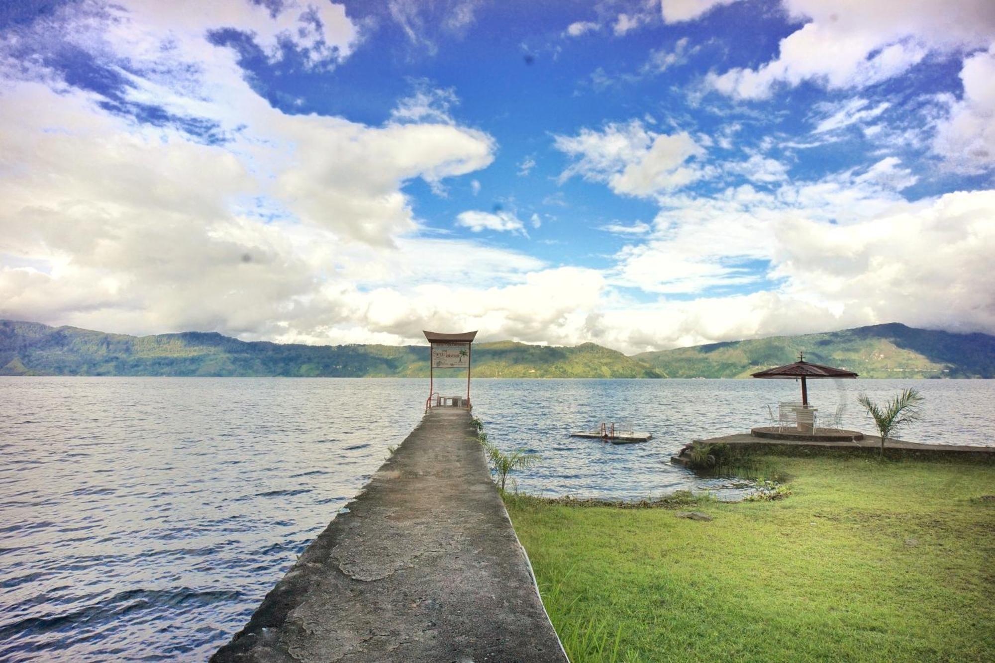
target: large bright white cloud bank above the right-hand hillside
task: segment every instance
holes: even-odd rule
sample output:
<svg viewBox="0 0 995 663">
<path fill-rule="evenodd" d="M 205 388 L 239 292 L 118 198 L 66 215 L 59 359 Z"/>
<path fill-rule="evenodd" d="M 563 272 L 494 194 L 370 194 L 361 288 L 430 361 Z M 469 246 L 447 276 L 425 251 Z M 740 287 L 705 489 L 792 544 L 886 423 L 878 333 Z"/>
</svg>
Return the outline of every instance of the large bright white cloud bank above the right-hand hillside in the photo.
<svg viewBox="0 0 995 663">
<path fill-rule="evenodd" d="M 854 224 L 784 219 L 783 292 L 847 321 L 991 330 L 995 191 L 949 193 Z"/>
</svg>

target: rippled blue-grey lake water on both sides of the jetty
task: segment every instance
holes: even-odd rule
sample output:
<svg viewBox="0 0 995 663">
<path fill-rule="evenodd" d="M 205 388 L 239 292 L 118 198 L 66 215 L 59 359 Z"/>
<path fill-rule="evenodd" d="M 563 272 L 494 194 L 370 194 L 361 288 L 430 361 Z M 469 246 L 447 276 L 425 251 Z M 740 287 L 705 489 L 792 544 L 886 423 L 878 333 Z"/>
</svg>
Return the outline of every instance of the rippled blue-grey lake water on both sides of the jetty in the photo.
<svg viewBox="0 0 995 663">
<path fill-rule="evenodd" d="M 823 380 L 823 412 L 871 430 L 860 391 L 914 385 L 918 442 L 995 440 L 992 380 Z M 458 394 L 465 383 L 444 383 Z M 421 418 L 423 379 L 0 377 L 0 660 L 204 660 Z M 491 441 L 542 454 L 545 495 L 741 494 L 667 463 L 766 421 L 790 380 L 476 380 Z M 642 445 L 571 439 L 603 420 Z M 629 427 L 629 426 L 627 426 Z"/>
</svg>

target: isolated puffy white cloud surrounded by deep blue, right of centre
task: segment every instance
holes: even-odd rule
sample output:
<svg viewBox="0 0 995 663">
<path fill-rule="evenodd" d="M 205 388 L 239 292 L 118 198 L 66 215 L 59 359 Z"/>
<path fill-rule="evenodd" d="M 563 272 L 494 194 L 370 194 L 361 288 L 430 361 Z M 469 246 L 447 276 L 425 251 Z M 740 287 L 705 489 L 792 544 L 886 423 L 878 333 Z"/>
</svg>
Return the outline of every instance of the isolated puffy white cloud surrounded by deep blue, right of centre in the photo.
<svg viewBox="0 0 995 663">
<path fill-rule="evenodd" d="M 583 128 L 575 136 L 557 135 L 554 146 L 574 158 L 560 175 L 561 181 L 581 175 L 607 182 L 616 193 L 635 196 L 694 182 L 701 176 L 700 169 L 686 162 L 704 154 L 688 133 L 657 133 L 638 119 L 612 122 L 601 131 Z"/>
</svg>

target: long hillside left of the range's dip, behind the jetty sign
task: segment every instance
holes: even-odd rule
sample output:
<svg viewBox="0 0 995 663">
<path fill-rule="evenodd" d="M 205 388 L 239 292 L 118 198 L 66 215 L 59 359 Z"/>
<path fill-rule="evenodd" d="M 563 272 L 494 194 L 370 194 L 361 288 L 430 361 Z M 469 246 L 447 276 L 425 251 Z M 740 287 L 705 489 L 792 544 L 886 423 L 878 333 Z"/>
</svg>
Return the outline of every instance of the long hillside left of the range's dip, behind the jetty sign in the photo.
<svg viewBox="0 0 995 663">
<path fill-rule="evenodd" d="M 475 343 L 473 352 L 478 377 L 664 376 L 594 343 L 501 341 Z M 129 336 L 0 321 L 0 375 L 419 377 L 429 374 L 428 359 L 428 346 L 418 345 L 245 342 L 196 331 Z"/>
</svg>

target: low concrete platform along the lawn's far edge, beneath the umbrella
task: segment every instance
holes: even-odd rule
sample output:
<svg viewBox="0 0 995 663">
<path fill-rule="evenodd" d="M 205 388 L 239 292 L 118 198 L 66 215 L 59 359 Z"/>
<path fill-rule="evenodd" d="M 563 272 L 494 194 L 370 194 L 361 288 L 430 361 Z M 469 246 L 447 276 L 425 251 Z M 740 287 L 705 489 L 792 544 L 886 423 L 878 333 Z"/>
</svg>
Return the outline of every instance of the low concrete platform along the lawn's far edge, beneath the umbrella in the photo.
<svg viewBox="0 0 995 663">
<path fill-rule="evenodd" d="M 763 449 L 764 447 L 818 447 L 821 449 L 865 449 L 877 451 L 881 449 L 881 438 L 877 435 L 841 436 L 839 439 L 819 439 L 811 435 L 795 434 L 791 436 L 781 436 L 773 438 L 756 435 L 756 430 L 751 433 L 737 433 L 733 435 L 722 435 L 707 439 L 694 440 L 685 445 L 677 456 L 671 457 L 672 463 L 687 465 L 688 459 L 685 452 L 696 442 L 704 444 L 728 444 L 745 448 Z M 761 429 L 763 430 L 763 429 Z M 774 428 L 776 431 L 777 429 Z M 857 431 L 844 431 L 845 433 L 857 433 Z M 995 446 L 980 447 L 955 444 L 922 444 L 920 442 L 906 442 L 904 440 L 889 439 L 885 443 L 885 451 L 889 456 L 908 457 L 947 457 L 963 458 L 985 461 L 995 461 Z"/>
</svg>

